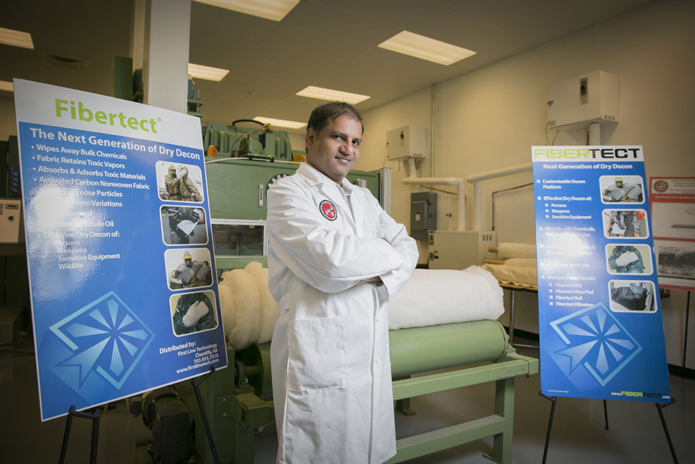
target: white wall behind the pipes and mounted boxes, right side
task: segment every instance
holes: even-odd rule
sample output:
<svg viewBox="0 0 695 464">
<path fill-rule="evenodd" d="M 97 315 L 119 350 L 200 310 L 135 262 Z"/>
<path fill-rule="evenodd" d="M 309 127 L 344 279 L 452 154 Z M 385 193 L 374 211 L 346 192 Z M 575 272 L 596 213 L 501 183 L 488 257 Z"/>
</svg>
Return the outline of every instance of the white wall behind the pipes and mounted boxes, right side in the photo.
<svg viewBox="0 0 695 464">
<path fill-rule="evenodd" d="M 546 144 L 548 84 L 594 70 L 620 80 L 620 122 L 602 127 L 604 145 L 644 146 L 646 175 L 695 176 L 691 148 L 695 127 L 695 2 L 654 1 L 624 15 L 571 33 L 436 86 L 434 176 L 466 177 L 530 161 L 531 145 Z M 430 88 L 364 113 L 366 134 L 358 169 L 382 166 L 386 131 L 403 125 L 430 127 Z M 550 131 L 550 140 L 555 131 Z M 585 131 L 560 132 L 556 145 L 585 145 Z M 387 163 L 389 165 L 389 163 Z M 392 214 L 409 223 L 409 193 L 395 163 Z M 429 160 L 423 176 L 429 176 Z M 531 182 L 516 175 L 486 182 L 483 228 L 491 227 L 493 191 Z M 448 195 L 447 195 L 448 196 Z M 467 228 L 473 189 L 467 187 Z M 441 195 L 440 195 L 441 198 Z M 534 243 L 530 188 L 496 195 L 498 241 Z M 441 214 L 440 209 L 440 214 Z M 455 220 L 455 218 L 454 218 Z M 424 249 L 421 248 L 424 253 Z M 423 253 L 420 262 L 426 262 Z M 682 362 L 685 292 L 664 299 L 667 358 Z M 507 299 L 509 294 L 507 292 Z M 534 296 L 517 298 L 516 328 L 538 332 Z M 507 323 L 507 315 L 500 319 Z M 695 333 L 695 317 L 689 332 Z M 695 341 L 687 367 L 695 368 Z"/>
</svg>

